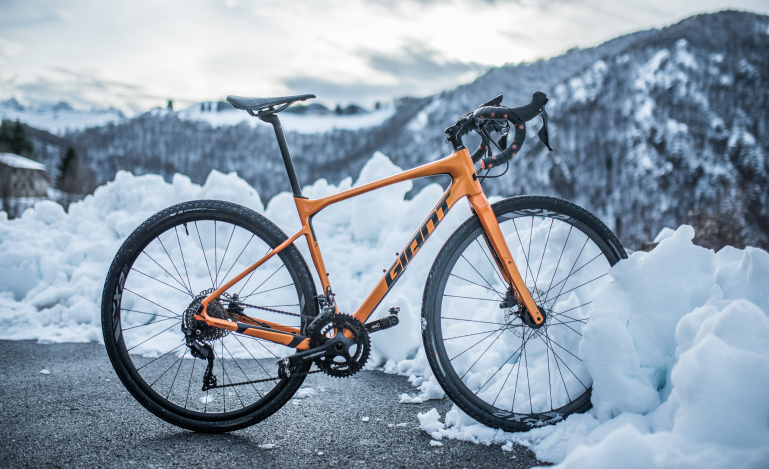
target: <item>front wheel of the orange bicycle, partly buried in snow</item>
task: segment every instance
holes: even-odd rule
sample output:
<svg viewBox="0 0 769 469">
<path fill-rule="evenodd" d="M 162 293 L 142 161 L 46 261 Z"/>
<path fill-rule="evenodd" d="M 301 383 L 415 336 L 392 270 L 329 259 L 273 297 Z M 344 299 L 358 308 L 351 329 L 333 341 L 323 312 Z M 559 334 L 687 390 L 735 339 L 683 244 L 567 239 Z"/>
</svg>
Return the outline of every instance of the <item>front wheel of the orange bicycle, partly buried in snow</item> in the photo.
<svg viewBox="0 0 769 469">
<path fill-rule="evenodd" d="M 509 287 L 472 217 L 433 264 L 422 337 L 435 377 L 464 412 L 527 431 L 590 408 L 581 331 L 609 269 L 627 254 L 600 220 L 565 200 L 521 196 L 493 209 L 545 322 L 531 325 L 525 311 L 501 304 Z"/>
</svg>

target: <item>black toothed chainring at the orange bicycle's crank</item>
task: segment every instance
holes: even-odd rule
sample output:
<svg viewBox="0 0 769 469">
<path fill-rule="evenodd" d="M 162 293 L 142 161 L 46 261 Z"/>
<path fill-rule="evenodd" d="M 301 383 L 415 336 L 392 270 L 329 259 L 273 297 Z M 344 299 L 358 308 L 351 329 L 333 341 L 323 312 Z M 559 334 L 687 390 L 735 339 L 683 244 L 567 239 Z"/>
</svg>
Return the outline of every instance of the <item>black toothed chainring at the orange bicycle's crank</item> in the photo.
<svg viewBox="0 0 769 469">
<path fill-rule="evenodd" d="M 347 331 L 352 335 L 344 335 Z M 315 324 L 310 332 L 310 346 L 318 347 L 328 340 L 338 339 L 345 344 L 343 350 L 333 356 L 315 359 L 318 368 L 329 376 L 346 378 L 363 368 L 371 353 L 371 340 L 366 326 L 352 316 L 334 314 L 320 324 Z M 354 348 L 353 348 L 354 347 Z"/>
</svg>

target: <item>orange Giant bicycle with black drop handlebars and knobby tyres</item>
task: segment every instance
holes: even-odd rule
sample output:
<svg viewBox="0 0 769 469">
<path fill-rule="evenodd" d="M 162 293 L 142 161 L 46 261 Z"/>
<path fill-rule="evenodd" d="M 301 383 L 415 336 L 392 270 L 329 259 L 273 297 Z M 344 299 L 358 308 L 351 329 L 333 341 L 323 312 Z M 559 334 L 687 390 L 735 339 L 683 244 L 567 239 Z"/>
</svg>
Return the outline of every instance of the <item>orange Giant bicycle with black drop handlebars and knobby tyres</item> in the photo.
<svg viewBox="0 0 769 469">
<path fill-rule="evenodd" d="M 502 106 L 498 96 L 446 129 L 450 156 L 311 200 L 302 194 L 278 113 L 314 97 L 227 98 L 273 126 L 301 221 L 297 233 L 288 237 L 233 203 L 197 200 L 155 214 L 118 251 L 105 281 L 102 327 L 130 393 L 174 425 L 225 432 L 269 417 L 310 373 L 354 375 L 369 357 L 370 334 L 396 326 L 398 308 L 366 321 L 448 211 L 467 198 L 472 216 L 441 248 L 422 299 L 422 338 L 435 377 L 468 415 L 508 431 L 589 409 L 592 380 L 577 354 L 580 331 L 586 307 L 610 281 L 609 268 L 627 255 L 600 220 L 570 202 L 518 196 L 492 205 L 481 186 L 495 177 L 491 168 L 520 150 L 526 122 L 537 116 L 538 135 L 552 151 L 545 94 L 517 108 Z M 471 131 L 481 135 L 472 155 L 462 143 Z M 502 135 L 498 142 L 492 132 Z M 438 204 L 358 309 L 338 311 L 313 216 L 437 174 L 452 179 Z M 320 293 L 294 244 L 300 237 Z"/>
</svg>

